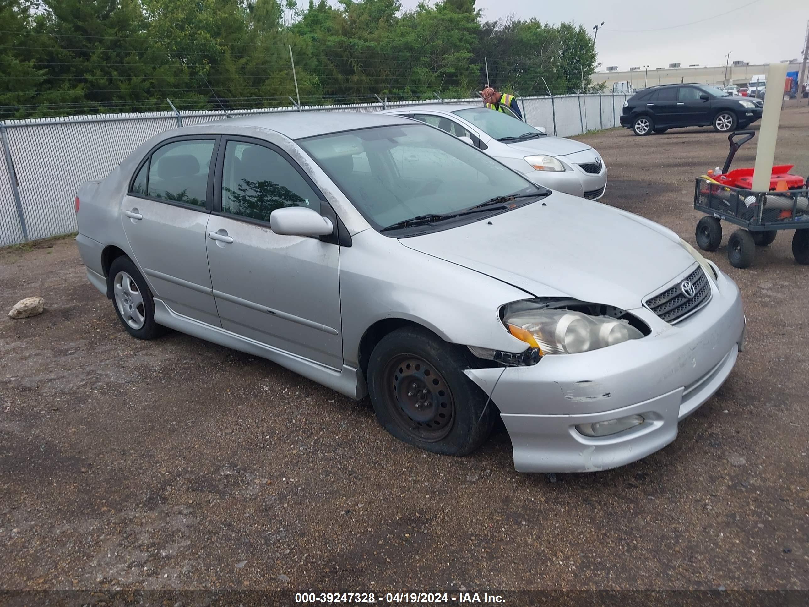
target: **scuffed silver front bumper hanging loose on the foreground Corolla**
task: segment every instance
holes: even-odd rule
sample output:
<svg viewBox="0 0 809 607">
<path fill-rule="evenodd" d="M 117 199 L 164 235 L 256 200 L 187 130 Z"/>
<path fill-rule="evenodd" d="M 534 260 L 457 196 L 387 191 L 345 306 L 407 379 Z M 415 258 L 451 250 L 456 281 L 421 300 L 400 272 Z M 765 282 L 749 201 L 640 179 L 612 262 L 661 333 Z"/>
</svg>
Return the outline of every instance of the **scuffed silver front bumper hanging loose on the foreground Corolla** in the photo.
<svg viewBox="0 0 809 607">
<path fill-rule="evenodd" d="M 652 333 L 582 354 L 545 356 L 532 367 L 470 369 L 498 405 L 519 472 L 591 472 L 649 455 L 709 399 L 743 347 L 739 289 L 720 274 L 708 305 L 677 325 L 632 312 Z M 578 427 L 640 415 L 642 423 L 591 437 Z"/>
</svg>

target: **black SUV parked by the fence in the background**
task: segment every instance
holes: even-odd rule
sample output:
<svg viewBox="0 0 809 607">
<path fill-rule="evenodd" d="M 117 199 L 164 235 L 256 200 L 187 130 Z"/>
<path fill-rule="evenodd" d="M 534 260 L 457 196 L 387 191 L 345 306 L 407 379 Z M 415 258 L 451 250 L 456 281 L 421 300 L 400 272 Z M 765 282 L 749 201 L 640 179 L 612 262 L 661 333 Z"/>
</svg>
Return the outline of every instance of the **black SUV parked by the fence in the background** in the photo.
<svg viewBox="0 0 809 607">
<path fill-rule="evenodd" d="M 624 102 L 621 126 L 632 129 L 636 135 L 707 125 L 713 125 L 720 133 L 731 133 L 757 121 L 762 108 L 762 100 L 728 96 L 717 87 L 662 84 L 638 91 Z"/>
</svg>

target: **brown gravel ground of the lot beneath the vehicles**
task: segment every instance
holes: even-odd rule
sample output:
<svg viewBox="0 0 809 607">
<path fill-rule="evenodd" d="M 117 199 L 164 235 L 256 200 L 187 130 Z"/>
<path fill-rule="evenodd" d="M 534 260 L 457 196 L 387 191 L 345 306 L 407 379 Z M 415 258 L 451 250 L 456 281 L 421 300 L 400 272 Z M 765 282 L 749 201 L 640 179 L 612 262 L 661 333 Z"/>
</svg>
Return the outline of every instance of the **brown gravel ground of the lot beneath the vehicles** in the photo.
<svg viewBox="0 0 809 607">
<path fill-rule="evenodd" d="M 802 175 L 807 135 L 809 110 L 786 110 L 777 161 Z M 693 177 L 724 136 L 582 139 L 605 204 L 694 242 Z M 791 236 L 749 270 L 707 254 L 743 292 L 747 349 L 675 443 L 555 478 L 516 473 L 504 431 L 434 456 L 273 363 L 134 340 L 72 240 L 2 250 L 0 310 L 46 311 L 0 320 L 0 588 L 807 590 L 809 270 Z"/>
</svg>

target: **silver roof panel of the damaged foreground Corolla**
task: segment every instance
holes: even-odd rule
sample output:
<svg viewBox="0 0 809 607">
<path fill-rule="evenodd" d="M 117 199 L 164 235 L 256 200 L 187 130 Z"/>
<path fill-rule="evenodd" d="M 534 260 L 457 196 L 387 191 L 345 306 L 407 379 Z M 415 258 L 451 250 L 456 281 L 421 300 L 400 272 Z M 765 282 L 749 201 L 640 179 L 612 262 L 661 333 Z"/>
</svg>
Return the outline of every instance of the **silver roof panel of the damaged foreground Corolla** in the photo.
<svg viewBox="0 0 809 607">
<path fill-rule="evenodd" d="M 273 112 L 227 118 L 213 125 L 255 126 L 274 130 L 290 139 L 301 139 L 339 133 L 346 130 L 367 129 L 372 126 L 410 124 L 409 118 L 386 116 L 379 113 L 319 111 L 319 112 Z"/>
</svg>

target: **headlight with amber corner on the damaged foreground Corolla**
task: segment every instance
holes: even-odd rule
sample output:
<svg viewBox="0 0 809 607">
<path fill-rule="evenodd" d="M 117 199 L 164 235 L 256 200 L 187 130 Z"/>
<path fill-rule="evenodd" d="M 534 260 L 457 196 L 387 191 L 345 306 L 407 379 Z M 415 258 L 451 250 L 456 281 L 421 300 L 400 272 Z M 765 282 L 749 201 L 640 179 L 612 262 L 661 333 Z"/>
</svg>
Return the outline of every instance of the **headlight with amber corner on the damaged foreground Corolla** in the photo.
<svg viewBox="0 0 809 607">
<path fill-rule="evenodd" d="M 626 320 L 567 309 L 506 311 L 503 322 L 514 337 L 542 354 L 577 354 L 643 337 Z"/>
</svg>

